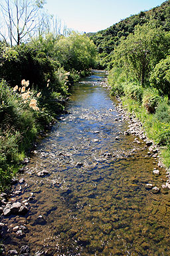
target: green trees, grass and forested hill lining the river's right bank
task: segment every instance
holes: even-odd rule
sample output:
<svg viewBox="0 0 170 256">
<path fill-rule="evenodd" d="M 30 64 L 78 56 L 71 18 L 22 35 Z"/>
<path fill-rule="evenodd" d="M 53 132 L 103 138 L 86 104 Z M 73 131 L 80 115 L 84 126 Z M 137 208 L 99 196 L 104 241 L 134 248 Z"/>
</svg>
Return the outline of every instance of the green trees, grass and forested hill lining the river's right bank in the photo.
<svg viewBox="0 0 170 256">
<path fill-rule="evenodd" d="M 170 167 L 170 1 L 92 35 L 100 65 L 110 70 L 112 95 L 121 97 Z"/>
</svg>

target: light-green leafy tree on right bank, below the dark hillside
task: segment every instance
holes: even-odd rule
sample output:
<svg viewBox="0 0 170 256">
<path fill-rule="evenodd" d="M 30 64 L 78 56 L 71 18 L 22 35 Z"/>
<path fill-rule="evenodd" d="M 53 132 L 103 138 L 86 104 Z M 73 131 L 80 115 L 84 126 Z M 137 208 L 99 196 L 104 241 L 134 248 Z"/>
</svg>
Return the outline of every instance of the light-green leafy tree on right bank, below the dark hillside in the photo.
<svg viewBox="0 0 170 256">
<path fill-rule="evenodd" d="M 134 34 L 122 39 L 114 51 L 114 64 L 124 67 L 141 83 L 149 79 L 151 70 L 169 53 L 169 33 L 151 25 L 137 25 Z"/>
</svg>

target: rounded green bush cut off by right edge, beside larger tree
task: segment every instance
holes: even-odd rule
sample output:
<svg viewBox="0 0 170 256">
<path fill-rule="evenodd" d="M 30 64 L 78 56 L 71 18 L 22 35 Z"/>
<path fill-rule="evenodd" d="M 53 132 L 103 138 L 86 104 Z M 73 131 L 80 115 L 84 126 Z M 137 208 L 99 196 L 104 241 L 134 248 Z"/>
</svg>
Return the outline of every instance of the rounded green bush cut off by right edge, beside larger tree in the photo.
<svg viewBox="0 0 170 256">
<path fill-rule="evenodd" d="M 151 84 L 170 99 L 170 55 L 155 65 L 150 77 Z"/>
</svg>

